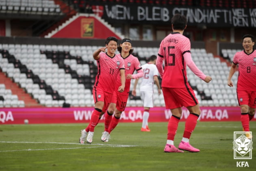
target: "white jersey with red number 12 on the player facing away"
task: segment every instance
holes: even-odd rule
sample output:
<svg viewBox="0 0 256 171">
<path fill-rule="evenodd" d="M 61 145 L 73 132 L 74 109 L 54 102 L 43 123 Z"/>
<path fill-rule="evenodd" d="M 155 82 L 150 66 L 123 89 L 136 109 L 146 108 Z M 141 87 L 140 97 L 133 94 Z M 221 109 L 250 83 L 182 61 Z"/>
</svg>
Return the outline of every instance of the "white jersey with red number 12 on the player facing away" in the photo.
<svg viewBox="0 0 256 171">
<path fill-rule="evenodd" d="M 158 70 L 153 63 L 142 65 L 144 75 L 141 79 L 140 91 L 154 92 L 154 76 L 158 76 Z"/>
</svg>

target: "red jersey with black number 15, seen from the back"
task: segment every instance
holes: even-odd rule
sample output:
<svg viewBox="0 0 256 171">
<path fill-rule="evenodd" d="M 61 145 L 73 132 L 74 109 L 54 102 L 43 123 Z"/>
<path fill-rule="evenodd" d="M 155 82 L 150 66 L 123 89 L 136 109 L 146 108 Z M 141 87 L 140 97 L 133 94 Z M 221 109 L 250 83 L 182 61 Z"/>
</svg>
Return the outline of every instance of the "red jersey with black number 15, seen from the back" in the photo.
<svg viewBox="0 0 256 171">
<path fill-rule="evenodd" d="M 190 41 L 187 37 L 178 32 L 169 34 L 160 44 L 156 66 L 162 66 L 164 61 L 162 87 L 185 88 L 189 86 L 187 82 L 187 69 L 183 54 L 190 53 Z M 158 69 L 160 75 L 162 74 Z"/>
</svg>

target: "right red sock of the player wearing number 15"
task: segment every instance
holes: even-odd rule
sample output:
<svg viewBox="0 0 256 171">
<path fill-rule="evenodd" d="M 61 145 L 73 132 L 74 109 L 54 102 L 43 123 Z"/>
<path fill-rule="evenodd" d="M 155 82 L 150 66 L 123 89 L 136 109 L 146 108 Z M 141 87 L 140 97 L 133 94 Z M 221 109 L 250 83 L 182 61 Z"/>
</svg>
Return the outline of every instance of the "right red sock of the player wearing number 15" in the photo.
<svg viewBox="0 0 256 171">
<path fill-rule="evenodd" d="M 184 130 L 184 134 L 183 137 L 189 139 L 191 136 L 191 133 L 193 132 L 193 130 L 195 129 L 195 126 L 197 124 L 197 119 L 198 119 L 199 115 L 195 114 L 195 113 L 190 113 L 189 117 L 187 118 L 187 121 L 185 123 L 185 130 Z"/>
</svg>

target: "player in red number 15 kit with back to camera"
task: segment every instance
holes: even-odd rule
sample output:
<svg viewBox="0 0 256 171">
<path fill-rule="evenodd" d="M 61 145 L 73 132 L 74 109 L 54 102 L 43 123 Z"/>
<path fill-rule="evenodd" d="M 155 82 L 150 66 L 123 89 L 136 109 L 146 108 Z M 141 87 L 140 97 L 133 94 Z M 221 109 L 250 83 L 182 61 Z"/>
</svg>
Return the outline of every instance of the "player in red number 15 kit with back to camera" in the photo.
<svg viewBox="0 0 256 171">
<path fill-rule="evenodd" d="M 183 35 L 187 27 L 187 18 L 184 15 L 175 14 L 171 18 L 173 32 L 161 41 L 156 67 L 162 80 L 162 91 L 165 99 L 165 107 L 171 109 L 172 116 L 167 126 L 167 143 L 164 152 L 200 152 L 189 143 L 191 133 L 195 129 L 197 119 L 201 114 L 198 100 L 187 80 L 186 66 L 193 73 L 204 80 L 210 82 L 211 77 L 200 71 L 191 58 L 191 43 Z M 163 70 L 163 61 L 165 68 Z M 174 146 L 174 136 L 178 128 L 178 123 L 182 115 L 182 106 L 189 110 L 189 117 L 185 123 L 185 130 L 182 141 L 178 148 Z M 182 150 L 183 149 L 183 150 Z"/>
</svg>

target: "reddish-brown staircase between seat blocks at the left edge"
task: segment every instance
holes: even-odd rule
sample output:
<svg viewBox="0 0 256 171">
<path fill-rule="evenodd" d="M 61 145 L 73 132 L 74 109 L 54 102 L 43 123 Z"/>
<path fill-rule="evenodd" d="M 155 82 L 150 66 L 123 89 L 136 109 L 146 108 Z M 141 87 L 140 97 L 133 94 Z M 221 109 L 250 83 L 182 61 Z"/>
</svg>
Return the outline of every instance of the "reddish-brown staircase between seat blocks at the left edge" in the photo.
<svg viewBox="0 0 256 171">
<path fill-rule="evenodd" d="M 37 100 L 33 99 L 3 72 L 0 72 L 0 84 L 5 84 L 6 89 L 11 89 L 12 94 L 17 95 L 19 100 L 23 100 L 26 107 L 42 107 L 42 105 L 38 104 Z"/>
</svg>

